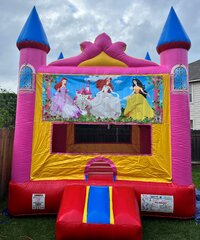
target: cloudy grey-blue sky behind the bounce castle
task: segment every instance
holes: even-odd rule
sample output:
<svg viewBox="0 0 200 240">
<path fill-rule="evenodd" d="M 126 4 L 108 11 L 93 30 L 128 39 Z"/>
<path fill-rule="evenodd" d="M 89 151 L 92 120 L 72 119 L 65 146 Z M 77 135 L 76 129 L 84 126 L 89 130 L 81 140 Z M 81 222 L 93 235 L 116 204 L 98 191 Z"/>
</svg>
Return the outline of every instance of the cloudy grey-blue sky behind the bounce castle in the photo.
<svg viewBox="0 0 200 240">
<path fill-rule="evenodd" d="M 126 54 L 144 58 L 148 51 L 159 63 L 156 46 L 171 6 L 192 42 L 191 63 L 200 59 L 199 4 L 199 0 L 0 0 L 0 88 L 17 92 L 16 40 L 34 6 L 51 47 L 47 63 L 61 51 L 65 58 L 79 55 L 80 43 L 94 42 L 103 32 L 112 42 L 125 42 Z"/>
</svg>

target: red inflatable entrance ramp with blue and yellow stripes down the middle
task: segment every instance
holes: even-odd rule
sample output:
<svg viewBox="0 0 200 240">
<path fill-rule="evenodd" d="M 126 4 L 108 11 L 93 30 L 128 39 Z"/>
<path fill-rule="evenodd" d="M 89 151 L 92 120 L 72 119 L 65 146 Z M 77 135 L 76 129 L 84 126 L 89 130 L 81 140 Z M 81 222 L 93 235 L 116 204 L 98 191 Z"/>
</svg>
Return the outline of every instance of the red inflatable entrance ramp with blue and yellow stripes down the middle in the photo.
<svg viewBox="0 0 200 240">
<path fill-rule="evenodd" d="M 56 239 L 142 239 L 139 208 L 131 187 L 66 187 Z"/>
</svg>

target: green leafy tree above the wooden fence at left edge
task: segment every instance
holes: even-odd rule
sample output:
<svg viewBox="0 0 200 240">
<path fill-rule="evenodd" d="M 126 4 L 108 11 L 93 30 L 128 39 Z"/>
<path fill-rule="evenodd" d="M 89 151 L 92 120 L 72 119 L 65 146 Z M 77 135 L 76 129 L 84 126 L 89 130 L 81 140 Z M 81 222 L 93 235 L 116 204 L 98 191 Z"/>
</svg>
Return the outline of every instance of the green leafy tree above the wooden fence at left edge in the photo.
<svg viewBox="0 0 200 240">
<path fill-rule="evenodd" d="M 15 126 L 17 94 L 0 88 L 0 128 Z"/>
</svg>

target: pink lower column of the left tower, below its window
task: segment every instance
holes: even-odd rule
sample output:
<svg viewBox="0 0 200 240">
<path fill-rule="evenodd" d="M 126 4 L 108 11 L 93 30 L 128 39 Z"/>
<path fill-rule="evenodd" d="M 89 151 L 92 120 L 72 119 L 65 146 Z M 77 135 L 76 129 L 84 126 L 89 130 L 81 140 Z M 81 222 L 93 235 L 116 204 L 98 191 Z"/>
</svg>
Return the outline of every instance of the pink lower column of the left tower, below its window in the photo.
<svg viewBox="0 0 200 240">
<path fill-rule="evenodd" d="M 34 92 L 18 93 L 12 161 L 12 180 L 16 182 L 30 179 L 34 100 Z"/>
</svg>

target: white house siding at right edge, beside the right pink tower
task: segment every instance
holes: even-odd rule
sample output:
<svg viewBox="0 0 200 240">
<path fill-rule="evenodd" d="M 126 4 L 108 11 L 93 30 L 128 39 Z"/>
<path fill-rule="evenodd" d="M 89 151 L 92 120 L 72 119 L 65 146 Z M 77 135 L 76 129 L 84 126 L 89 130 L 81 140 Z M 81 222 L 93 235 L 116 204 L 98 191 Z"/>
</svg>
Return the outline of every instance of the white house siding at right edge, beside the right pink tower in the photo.
<svg viewBox="0 0 200 240">
<path fill-rule="evenodd" d="M 200 81 L 190 82 L 193 88 L 193 102 L 190 103 L 190 119 L 194 121 L 195 130 L 200 129 Z"/>
</svg>

